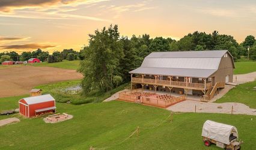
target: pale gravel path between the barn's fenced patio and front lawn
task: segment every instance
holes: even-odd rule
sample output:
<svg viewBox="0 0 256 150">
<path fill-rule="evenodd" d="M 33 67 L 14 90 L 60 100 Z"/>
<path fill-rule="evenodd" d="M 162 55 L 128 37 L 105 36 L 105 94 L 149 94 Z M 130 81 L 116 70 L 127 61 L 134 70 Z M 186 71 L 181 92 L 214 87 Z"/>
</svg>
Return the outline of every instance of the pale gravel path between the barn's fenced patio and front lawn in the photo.
<svg viewBox="0 0 256 150">
<path fill-rule="evenodd" d="M 234 114 L 242 115 L 256 115 L 256 109 L 250 109 L 249 106 L 241 103 L 204 103 L 194 100 L 182 101 L 178 104 L 166 108 L 173 112 L 195 112 L 195 106 L 197 106 L 197 112 L 201 113 L 230 113 L 233 106 Z M 218 108 L 220 107 L 220 108 Z"/>
</svg>

